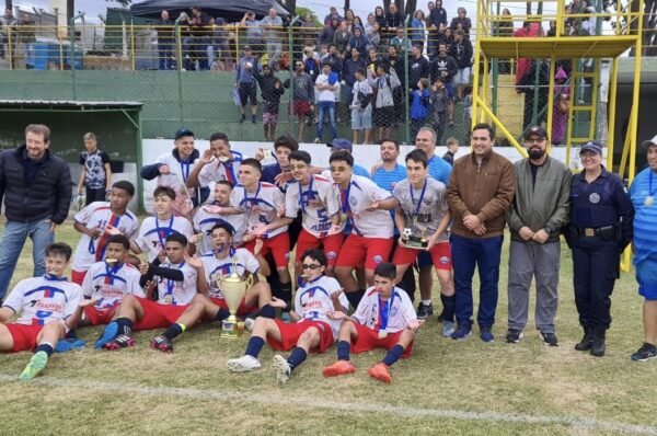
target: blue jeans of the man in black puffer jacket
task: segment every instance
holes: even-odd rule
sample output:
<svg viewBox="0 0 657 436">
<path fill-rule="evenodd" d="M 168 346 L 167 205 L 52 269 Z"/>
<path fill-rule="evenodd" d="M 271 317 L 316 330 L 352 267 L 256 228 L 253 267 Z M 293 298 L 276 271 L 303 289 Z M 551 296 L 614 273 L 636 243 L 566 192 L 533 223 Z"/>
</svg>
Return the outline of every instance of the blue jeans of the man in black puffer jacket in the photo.
<svg viewBox="0 0 657 436">
<path fill-rule="evenodd" d="M 50 220 L 46 219 L 32 222 L 7 222 L 0 240 L 0 299 L 3 299 L 7 294 L 27 237 L 32 239 L 33 245 L 34 277 L 46 274 L 46 246 L 54 241 L 50 225 Z"/>
</svg>

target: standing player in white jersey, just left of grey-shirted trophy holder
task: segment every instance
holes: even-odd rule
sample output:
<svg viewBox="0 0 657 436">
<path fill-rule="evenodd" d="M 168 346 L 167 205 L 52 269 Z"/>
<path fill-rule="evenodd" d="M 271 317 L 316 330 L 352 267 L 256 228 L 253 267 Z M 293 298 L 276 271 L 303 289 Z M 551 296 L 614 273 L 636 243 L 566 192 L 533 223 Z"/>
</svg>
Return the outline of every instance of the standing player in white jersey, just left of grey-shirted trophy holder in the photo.
<svg viewBox="0 0 657 436">
<path fill-rule="evenodd" d="M 367 177 L 353 173 L 354 158 L 348 151 L 335 151 L 328 160 L 331 175 L 339 188 L 342 213 L 351 223 L 335 263 L 335 276 L 351 306 L 357 307 L 365 290 L 358 288 L 354 268 L 365 268 L 367 284 L 372 283 L 374 267 L 387 262 L 392 250 L 393 223 L 388 210 L 396 200 Z"/>
</svg>

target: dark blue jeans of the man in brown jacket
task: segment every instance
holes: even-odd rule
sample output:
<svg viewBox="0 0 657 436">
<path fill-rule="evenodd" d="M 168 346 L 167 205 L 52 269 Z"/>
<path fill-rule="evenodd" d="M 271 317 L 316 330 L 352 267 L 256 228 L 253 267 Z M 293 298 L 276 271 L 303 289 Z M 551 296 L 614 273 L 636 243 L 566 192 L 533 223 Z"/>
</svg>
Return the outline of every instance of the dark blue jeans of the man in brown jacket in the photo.
<svg viewBox="0 0 657 436">
<path fill-rule="evenodd" d="M 451 236 L 452 264 L 454 265 L 454 287 L 457 294 L 457 322 L 469 328 L 474 311 L 472 301 L 472 276 L 479 267 L 480 305 L 476 321 L 480 328 L 495 323 L 497 309 L 497 284 L 504 237 L 484 239 Z"/>
</svg>

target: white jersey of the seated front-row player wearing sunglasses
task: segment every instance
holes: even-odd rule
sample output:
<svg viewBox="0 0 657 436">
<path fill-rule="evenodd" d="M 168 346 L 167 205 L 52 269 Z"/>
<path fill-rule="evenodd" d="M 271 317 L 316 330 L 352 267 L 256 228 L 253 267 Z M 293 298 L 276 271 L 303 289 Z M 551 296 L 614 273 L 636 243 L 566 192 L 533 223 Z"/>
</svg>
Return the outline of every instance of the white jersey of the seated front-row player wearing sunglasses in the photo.
<svg viewBox="0 0 657 436">
<path fill-rule="evenodd" d="M 339 320 L 330 320 L 328 312 L 334 311 L 333 301 L 331 295 L 342 289 L 339 283 L 333 277 L 321 276 L 312 282 L 306 283 L 302 288 L 297 290 L 295 297 L 295 312 L 297 312 L 302 320 L 309 321 L 323 321 L 331 325 L 333 330 L 333 337 L 337 339 L 339 330 Z M 339 296 L 339 303 L 346 310 L 349 309 L 349 300 L 342 294 Z"/>
</svg>

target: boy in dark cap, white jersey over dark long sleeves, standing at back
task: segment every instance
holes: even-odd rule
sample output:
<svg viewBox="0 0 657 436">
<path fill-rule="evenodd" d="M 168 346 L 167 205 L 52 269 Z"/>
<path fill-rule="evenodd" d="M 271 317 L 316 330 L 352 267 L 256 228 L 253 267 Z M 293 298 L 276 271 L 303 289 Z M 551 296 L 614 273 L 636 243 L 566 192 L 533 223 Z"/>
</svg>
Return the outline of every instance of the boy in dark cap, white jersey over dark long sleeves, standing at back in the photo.
<svg viewBox="0 0 657 436">
<path fill-rule="evenodd" d="M 169 186 L 175 192 L 173 210 L 177 216 L 188 216 L 195 206 L 208 197 L 210 191 L 206 186 L 197 192 L 187 190 L 187 180 L 198 161 L 199 152 L 194 148 L 194 133 L 182 128 L 175 133 L 175 148 L 161 154 L 155 162 L 141 169 L 141 177 L 157 179 L 158 186 Z"/>
</svg>

